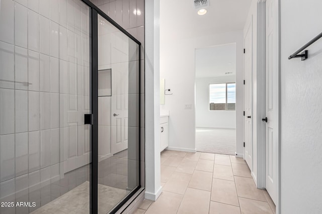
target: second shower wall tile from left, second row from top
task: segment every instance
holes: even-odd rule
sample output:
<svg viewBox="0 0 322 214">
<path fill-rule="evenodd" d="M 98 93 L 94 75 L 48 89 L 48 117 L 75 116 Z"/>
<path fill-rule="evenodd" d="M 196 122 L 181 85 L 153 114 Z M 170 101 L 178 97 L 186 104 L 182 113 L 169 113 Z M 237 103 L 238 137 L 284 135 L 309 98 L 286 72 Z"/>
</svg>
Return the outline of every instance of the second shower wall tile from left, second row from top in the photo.
<svg viewBox="0 0 322 214">
<path fill-rule="evenodd" d="M 15 46 L 15 87 L 28 90 L 28 51 Z"/>
</svg>

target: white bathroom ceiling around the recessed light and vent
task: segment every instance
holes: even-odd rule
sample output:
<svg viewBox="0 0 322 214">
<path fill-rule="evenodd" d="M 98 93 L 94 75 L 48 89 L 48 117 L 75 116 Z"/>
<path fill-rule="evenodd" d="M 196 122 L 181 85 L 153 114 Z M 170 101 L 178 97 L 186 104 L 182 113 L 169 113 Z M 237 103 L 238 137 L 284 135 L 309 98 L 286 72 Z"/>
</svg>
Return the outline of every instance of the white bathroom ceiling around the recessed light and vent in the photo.
<svg viewBox="0 0 322 214">
<path fill-rule="evenodd" d="M 193 0 L 161 0 L 160 31 L 169 39 L 243 30 L 252 0 L 209 0 L 208 13 L 197 15 Z"/>
</svg>

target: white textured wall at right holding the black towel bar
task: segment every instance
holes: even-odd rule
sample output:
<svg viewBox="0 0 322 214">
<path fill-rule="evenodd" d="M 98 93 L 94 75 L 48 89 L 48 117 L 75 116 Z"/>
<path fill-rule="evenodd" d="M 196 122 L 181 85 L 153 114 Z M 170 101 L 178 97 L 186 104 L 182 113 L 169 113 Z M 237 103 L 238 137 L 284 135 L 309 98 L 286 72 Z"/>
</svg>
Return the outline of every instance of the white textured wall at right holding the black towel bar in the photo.
<svg viewBox="0 0 322 214">
<path fill-rule="evenodd" d="M 322 39 L 307 48 L 305 61 L 287 59 L 321 33 L 317 8 L 322 8 L 322 2 L 281 0 L 280 4 L 280 213 L 322 213 Z"/>
</svg>

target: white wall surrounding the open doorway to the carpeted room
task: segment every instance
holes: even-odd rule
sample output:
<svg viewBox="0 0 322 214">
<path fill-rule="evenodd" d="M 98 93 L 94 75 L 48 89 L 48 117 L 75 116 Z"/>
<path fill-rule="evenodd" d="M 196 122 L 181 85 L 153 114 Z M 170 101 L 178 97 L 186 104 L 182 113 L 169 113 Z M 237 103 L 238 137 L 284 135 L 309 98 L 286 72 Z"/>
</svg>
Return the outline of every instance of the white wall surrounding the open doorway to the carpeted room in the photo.
<svg viewBox="0 0 322 214">
<path fill-rule="evenodd" d="M 236 43 L 236 139 L 237 153 L 243 153 L 243 31 L 213 34 L 180 40 L 167 40 L 166 26 L 160 20 L 160 78 L 165 78 L 166 89 L 173 95 L 166 96 L 163 108 L 170 111 L 169 147 L 195 151 L 195 49 Z M 164 26 L 164 27 L 163 27 Z M 192 109 L 185 110 L 185 104 Z"/>
</svg>

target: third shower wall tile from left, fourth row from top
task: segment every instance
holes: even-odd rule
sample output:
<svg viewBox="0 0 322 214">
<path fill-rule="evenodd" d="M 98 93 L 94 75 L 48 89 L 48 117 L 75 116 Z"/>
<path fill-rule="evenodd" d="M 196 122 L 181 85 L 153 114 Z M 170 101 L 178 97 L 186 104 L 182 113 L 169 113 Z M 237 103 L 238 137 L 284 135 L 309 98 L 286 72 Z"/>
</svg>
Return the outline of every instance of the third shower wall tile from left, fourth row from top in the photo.
<svg viewBox="0 0 322 214">
<path fill-rule="evenodd" d="M 29 172 L 40 169 L 40 131 L 29 132 Z"/>
</svg>

